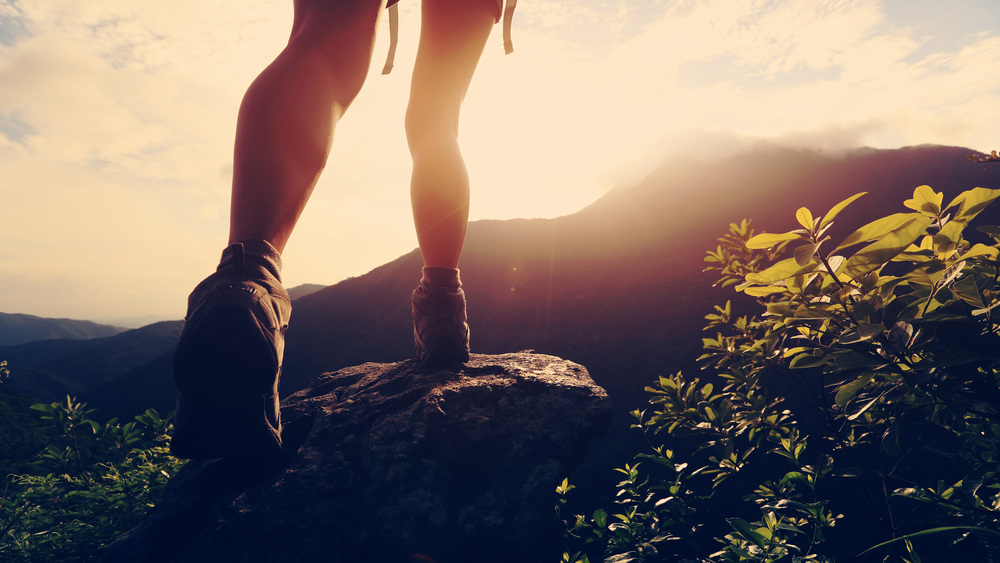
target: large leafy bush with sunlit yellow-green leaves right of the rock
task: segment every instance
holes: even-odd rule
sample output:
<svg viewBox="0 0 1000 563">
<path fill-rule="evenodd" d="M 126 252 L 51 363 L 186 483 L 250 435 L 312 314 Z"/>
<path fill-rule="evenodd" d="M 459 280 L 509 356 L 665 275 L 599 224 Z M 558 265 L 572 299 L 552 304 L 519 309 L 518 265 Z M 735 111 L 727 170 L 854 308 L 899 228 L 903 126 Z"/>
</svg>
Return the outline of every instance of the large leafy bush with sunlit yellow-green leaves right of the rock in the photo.
<svg viewBox="0 0 1000 563">
<path fill-rule="evenodd" d="M 708 253 L 760 313 L 706 317 L 721 392 L 646 388 L 650 450 L 617 469 L 617 513 L 572 514 L 557 489 L 583 550 L 564 562 L 1000 561 L 1000 227 L 969 228 L 1000 190 L 944 206 L 921 186 L 831 249 L 863 195 L 788 233 L 733 224 Z"/>
</svg>

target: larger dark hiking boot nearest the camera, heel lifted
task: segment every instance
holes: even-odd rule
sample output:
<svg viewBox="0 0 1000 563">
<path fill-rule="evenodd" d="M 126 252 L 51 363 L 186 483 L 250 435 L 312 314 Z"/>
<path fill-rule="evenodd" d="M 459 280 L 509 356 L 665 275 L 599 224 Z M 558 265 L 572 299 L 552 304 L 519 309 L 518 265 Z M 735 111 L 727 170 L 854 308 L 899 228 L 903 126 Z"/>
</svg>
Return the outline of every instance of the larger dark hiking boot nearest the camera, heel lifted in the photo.
<svg viewBox="0 0 1000 563">
<path fill-rule="evenodd" d="M 269 458 L 281 451 L 278 378 L 292 305 L 280 269 L 267 242 L 234 243 L 188 298 L 173 361 L 175 456 Z"/>
</svg>

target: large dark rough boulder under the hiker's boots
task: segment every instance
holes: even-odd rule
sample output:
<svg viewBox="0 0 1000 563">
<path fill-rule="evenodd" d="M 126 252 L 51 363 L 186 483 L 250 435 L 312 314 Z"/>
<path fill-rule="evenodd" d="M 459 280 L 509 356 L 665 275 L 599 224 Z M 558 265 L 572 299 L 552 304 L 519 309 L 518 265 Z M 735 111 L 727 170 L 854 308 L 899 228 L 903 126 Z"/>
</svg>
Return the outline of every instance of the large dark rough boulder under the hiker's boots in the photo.
<svg viewBox="0 0 1000 563">
<path fill-rule="evenodd" d="M 554 562 L 555 486 L 610 411 L 531 352 L 324 374 L 282 403 L 282 459 L 190 462 L 99 561 Z"/>
</svg>

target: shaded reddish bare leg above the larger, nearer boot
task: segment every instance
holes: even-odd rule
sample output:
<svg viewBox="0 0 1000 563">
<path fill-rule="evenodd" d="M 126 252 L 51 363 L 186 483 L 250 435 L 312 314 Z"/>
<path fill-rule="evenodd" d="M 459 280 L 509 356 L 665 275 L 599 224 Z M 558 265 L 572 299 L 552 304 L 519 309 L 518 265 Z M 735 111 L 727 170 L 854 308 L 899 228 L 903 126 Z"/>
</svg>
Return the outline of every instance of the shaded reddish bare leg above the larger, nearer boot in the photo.
<svg viewBox="0 0 1000 563">
<path fill-rule="evenodd" d="M 229 242 L 279 252 L 326 165 L 337 121 L 361 90 L 386 0 L 295 0 L 288 45 L 243 97 Z"/>
</svg>

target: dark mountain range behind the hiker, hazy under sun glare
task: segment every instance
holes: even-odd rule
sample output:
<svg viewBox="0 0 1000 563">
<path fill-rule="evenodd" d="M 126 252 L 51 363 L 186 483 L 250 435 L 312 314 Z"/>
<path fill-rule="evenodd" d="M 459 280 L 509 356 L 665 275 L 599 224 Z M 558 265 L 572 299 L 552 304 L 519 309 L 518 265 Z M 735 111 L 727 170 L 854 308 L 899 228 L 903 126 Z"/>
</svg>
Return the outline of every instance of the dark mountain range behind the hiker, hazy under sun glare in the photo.
<svg viewBox="0 0 1000 563">
<path fill-rule="evenodd" d="M 1000 169 L 984 171 L 984 165 L 970 163 L 966 155 L 972 152 L 920 146 L 831 156 L 760 148 L 717 161 L 671 160 L 640 184 L 612 190 L 572 215 L 473 222 L 461 263 L 472 350 L 534 349 L 586 366 L 611 395 L 616 415 L 609 435 L 592 445 L 574 478 L 611 482 L 609 468 L 630 461 L 641 445 L 641 436 L 627 430 L 627 413 L 647 405 L 643 386 L 678 370 L 699 375 L 695 358 L 712 305 L 732 299 L 737 311 L 750 310 L 752 302 L 738 299 L 742 296 L 732 289 L 712 288 L 715 276 L 702 272 L 705 251 L 715 248 L 729 223 L 749 218 L 758 232 L 784 232 L 796 228 L 800 206 L 823 214 L 850 195 L 869 192 L 840 215 L 830 233 L 837 239 L 877 217 L 905 211 L 903 200 L 919 185 L 944 191 L 946 200 L 976 186 L 1000 187 Z M 980 219 L 997 223 L 1000 210 L 989 213 Z M 410 358 L 409 295 L 420 266 L 415 250 L 296 299 L 282 394 L 323 372 Z M 179 322 L 159 323 L 142 334 L 156 332 L 163 343 L 170 333 L 176 341 L 179 328 Z M 138 331 L 111 338 L 132 332 Z M 73 341 L 34 343 L 35 363 L 24 365 L 37 371 L 27 375 L 45 375 L 37 376 L 32 394 L 41 398 L 54 389 L 50 386 L 72 386 L 104 416 L 172 408 L 172 342 L 129 355 L 116 348 L 123 341 L 100 340 L 107 341 L 106 356 L 85 352 Z M 12 385 L 25 376 L 14 361 L 17 355 L 6 355 L 15 348 L 0 348 L 0 359 L 11 362 Z M 43 365 L 43 354 L 63 358 L 62 367 Z M 95 374 L 73 358 L 114 367 Z M 70 366 L 76 371 L 65 371 Z"/>
</svg>

